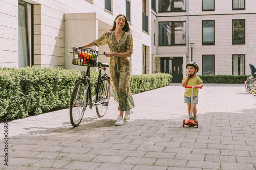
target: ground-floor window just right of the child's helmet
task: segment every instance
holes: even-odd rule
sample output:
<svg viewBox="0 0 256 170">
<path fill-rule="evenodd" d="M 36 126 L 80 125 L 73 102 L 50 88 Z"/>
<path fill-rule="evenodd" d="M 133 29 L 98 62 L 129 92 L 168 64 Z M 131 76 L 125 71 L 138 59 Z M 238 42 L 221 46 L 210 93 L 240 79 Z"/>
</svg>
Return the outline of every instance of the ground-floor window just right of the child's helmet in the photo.
<svg viewBox="0 0 256 170">
<path fill-rule="evenodd" d="M 203 55 L 203 75 L 214 75 L 214 55 Z"/>
</svg>

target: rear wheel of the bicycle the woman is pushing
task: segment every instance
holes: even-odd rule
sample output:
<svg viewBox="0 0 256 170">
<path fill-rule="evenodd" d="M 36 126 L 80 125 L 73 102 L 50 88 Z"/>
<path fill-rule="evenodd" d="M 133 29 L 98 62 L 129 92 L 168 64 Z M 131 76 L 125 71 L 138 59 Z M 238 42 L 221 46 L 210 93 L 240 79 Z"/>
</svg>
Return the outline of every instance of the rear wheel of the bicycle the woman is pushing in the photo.
<svg viewBox="0 0 256 170">
<path fill-rule="evenodd" d="M 110 100 L 110 81 L 104 78 L 99 84 L 98 92 L 96 94 L 95 103 L 100 103 L 96 105 L 96 112 L 99 117 L 103 117 L 109 106 Z"/>
</svg>

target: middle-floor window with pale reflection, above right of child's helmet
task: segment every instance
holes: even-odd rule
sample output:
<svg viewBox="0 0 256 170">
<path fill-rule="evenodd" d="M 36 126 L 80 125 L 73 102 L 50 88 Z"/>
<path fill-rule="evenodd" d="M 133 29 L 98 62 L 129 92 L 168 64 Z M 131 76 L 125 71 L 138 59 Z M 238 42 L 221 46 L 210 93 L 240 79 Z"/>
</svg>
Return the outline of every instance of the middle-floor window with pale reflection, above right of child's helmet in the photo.
<svg viewBox="0 0 256 170">
<path fill-rule="evenodd" d="M 203 21 L 203 45 L 214 45 L 214 20 Z"/>
</svg>

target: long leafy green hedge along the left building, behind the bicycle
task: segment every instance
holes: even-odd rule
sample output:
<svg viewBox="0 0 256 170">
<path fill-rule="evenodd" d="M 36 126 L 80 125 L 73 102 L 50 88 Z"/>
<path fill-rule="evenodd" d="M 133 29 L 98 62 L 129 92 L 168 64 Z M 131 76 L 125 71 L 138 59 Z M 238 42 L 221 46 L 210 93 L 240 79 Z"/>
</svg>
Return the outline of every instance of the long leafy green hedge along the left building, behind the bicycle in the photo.
<svg viewBox="0 0 256 170">
<path fill-rule="evenodd" d="M 97 82 L 96 71 L 90 72 L 92 94 Z M 78 70 L 49 67 L 0 68 L 0 118 L 25 118 L 47 111 L 68 108 Z M 169 74 L 131 75 L 133 94 L 168 85 Z"/>
</svg>

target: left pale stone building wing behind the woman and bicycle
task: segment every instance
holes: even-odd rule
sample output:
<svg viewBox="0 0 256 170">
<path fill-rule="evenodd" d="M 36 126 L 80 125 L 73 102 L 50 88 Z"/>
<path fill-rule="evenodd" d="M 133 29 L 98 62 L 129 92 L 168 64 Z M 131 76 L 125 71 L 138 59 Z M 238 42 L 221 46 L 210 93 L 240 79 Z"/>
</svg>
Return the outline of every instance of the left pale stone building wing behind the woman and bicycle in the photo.
<svg viewBox="0 0 256 170">
<path fill-rule="evenodd" d="M 84 69 L 72 65 L 72 47 L 98 38 L 122 13 L 134 41 L 132 74 L 151 73 L 150 0 L 0 0 L 0 7 L 0 67 Z"/>
</svg>

